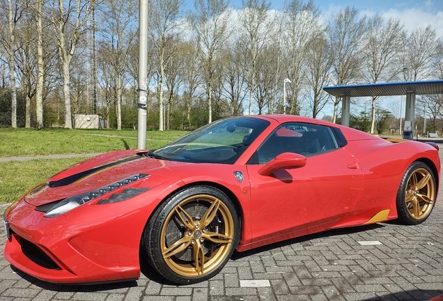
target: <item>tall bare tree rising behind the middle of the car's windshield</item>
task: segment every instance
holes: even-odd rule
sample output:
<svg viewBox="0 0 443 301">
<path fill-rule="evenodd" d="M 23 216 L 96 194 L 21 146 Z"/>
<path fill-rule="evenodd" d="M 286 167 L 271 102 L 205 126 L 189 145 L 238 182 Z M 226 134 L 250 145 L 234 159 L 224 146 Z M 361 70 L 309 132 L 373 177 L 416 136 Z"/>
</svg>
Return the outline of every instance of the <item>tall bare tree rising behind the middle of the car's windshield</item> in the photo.
<svg viewBox="0 0 443 301">
<path fill-rule="evenodd" d="M 201 55 L 201 73 L 205 80 L 206 100 L 208 101 L 208 123 L 212 122 L 212 88 L 217 70 L 216 57 L 219 56 L 228 37 L 234 30 L 231 10 L 225 0 L 196 0 L 195 10 L 189 13 L 189 24 L 196 33 Z"/>
</svg>

